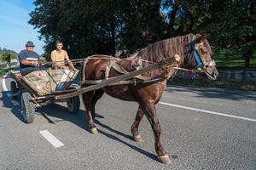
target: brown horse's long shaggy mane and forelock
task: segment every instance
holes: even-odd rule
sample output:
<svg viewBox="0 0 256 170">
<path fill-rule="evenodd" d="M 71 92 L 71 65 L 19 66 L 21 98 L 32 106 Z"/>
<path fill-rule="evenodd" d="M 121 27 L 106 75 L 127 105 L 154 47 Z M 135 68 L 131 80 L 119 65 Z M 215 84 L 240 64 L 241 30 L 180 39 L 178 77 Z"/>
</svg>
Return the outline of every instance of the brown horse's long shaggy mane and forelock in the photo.
<svg viewBox="0 0 256 170">
<path fill-rule="evenodd" d="M 184 55 L 189 53 L 191 48 L 186 48 L 190 42 L 194 41 L 197 37 L 201 35 L 188 34 L 180 37 L 172 37 L 160 42 L 154 42 L 148 45 L 148 47 L 140 50 L 133 58 L 141 58 L 152 62 L 157 62 L 166 57 L 170 57 L 174 54 L 179 54 L 181 59 L 184 59 Z M 208 52 L 212 54 L 212 48 L 210 47 L 207 40 L 204 41 L 208 48 Z"/>
</svg>

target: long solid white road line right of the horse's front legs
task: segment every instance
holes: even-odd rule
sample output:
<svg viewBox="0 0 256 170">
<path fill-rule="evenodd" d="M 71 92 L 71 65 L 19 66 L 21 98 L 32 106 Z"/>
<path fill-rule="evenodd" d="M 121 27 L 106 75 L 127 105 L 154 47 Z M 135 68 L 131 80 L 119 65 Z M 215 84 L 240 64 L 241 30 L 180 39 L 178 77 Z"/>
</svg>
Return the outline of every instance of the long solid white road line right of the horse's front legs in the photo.
<svg viewBox="0 0 256 170">
<path fill-rule="evenodd" d="M 228 114 L 219 113 L 219 112 L 216 112 L 216 111 L 207 111 L 207 110 L 196 109 L 196 108 L 193 108 L 193 107 L 188 107 L 188 106 L 183 106 L 183 105 L 169 104 L 169 103 L 165 103 L 165 102 L 159 102 L 159 103 L 161 105 L 169 105 L 169 106 L 172 106 L 172 107 L 177 107 L 177 108 L 191 110 L 191 111 L 201 111 L 201 112 L 212 114 L 212 115 L 226 116 L 226 117 L 232 117 L 232 118 L 236 118 L 236 119 L 241 119 L 241 120 L 244 120 L 244 121 L 256 122 L 256 119 L 247 118 L 247 117 L 244 117 L 244 116 L 228 115 Z"/>
</svg>

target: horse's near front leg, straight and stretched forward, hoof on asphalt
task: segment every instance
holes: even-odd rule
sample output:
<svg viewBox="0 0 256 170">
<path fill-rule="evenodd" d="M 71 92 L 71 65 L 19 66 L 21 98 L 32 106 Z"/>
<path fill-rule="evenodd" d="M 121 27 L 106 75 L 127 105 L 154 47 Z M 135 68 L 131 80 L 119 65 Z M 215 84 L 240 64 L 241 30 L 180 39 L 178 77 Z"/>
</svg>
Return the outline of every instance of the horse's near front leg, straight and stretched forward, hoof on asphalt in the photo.
<svg viewBox="0 0 256 170">
<path fill-rule="evenodd" d="M 143 111 L 145 115 L 148 118 L 148 121 L 151 124 L 151 127 L 154 132 L 154 140 L 155 140 L 155 151 L 157 153 L 157 156 L 159 160 L 162 163 L 170 164 L 171 159 L 166 150 L 164 149 L 164 144 L 161 139 L 161 127 L 160 127 L 160 122 L 159 118 L 156 115 L 155 107 L 153 103 L 147 103 L 143 106 Z"/>
</svg>

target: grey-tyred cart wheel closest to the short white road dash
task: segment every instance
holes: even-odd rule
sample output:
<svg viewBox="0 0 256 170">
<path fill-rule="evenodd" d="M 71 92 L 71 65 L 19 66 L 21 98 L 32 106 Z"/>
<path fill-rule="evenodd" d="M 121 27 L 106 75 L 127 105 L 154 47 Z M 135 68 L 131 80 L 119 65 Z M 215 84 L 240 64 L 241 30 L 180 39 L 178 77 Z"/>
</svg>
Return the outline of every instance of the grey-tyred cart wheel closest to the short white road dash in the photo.
<svg viewBox="0 0 256 170">
<path fill-rule="evenodd" d="M 32 102 L 31 94 L 29 94 L 28 92 L 22 93 L 20 103 L 24 122 L 32 123 L 35 118 L 35 108 Z"/>
</svg>

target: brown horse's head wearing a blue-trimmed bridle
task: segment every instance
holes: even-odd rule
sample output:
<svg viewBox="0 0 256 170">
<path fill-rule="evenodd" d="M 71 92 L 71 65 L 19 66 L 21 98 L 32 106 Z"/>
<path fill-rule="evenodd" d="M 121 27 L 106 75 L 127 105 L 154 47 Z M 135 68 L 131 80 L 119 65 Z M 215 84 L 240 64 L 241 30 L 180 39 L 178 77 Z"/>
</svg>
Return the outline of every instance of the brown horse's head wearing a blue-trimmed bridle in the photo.
<svg viewBox="0 0 256 170">
<path fill-rule="evenodd" d="M 185 59 L 189 69 L 204 72 L 210 80 L 216 80 L 218 71 L 215 61 L 212 59 L 212 49 L 206 36 L 196 36 L 196 39 L 189 43 L 189 47 L 191 50 Z"/>
</svg>

